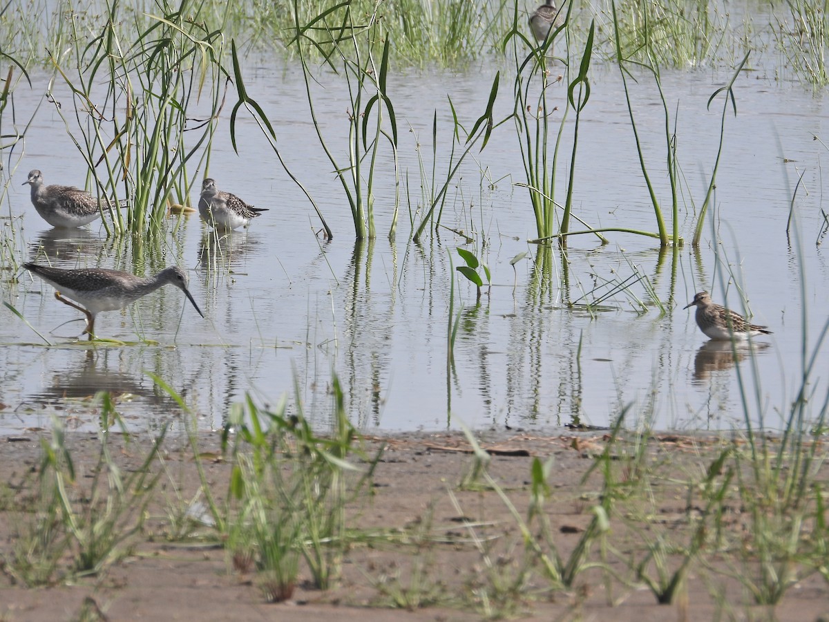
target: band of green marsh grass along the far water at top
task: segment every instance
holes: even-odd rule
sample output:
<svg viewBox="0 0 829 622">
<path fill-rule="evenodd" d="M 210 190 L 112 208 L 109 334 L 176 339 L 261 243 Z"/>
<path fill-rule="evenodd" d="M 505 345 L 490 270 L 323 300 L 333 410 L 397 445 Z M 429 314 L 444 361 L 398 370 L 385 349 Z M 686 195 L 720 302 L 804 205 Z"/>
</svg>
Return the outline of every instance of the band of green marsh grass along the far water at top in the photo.
<svg viewBox="0 0 829 622">
<path fill-rule="evenodd" d="M 529 2 L 529 7 L 536 2 Z M 569 3 L 568 3 L 569 4 Z M 597 25 L 597 56 L 615 56 L 610 2 L 594 2 L 574 7 L 568 30 L 584 40 L 591 19 Z M 338 15 L 350 11 L 354 25 L 364 27 L 376 14 L 376 35 L 361 41 L 359 53 L 381 56 L 385 41 L 390 41 L 390 61 L 401 67 L 468 67 L 485 59 L 502 45 L 511 24 L 527 31 L 527 4 L 492 2 L 453 2 L 453 0 L 292 0 L 286 3 L 221 2 L 203 0 L 183 7 L 197 20 L 220 30 L 236 41 L 244 56 L 297 55 L 294 47 L 295 24 L 312 23 L 323 13 Z M 0 12 L 0 35 L 7 41 L 7 53 L 24 66 L 50 66 L 44 50 L 58 51 L 75 45 L 77 33 L 90 38 L 106 22 L 107 3 L 79 0 L 55 7 L 44 0 L 9 2 Z M 119 37 L 126 41 L 129 32 L 143 32 L 157 4 L 138 0 L 122 9 L 124 19 L 115 24 Z M 793 67 L 795 75 L 815 85 L 825 84 L 826 18 L 820 2 L 791 0 L 773 7 L 769 17 L 764 9 L 750 3 L 734 6 L 703 0 L 657 0 L 627 2 L 619 10 L 620 43 L 626 56 L 647 61 L 652 56 L 662 66 L 718 67 L 730 64 L 733 56 L 746 51 L 765 52 L 768 38 L 777 41 L 778 51 Z M 742 19 L 739 19 L 742 17 Z M 334 32 L 342 22 L 332 22 Z M 760 36 L 756 36 L 759 32 Z M 324 61 L 332 49 L 327 27 L 308 31 L 307 59 L 312 64 Z M 317 46 L 316 44 L 319 44 Z M 553 50 L 550 46 L 550 52 Z M 552 56 L 552 54 L 550 54 Z"/>
</svg>

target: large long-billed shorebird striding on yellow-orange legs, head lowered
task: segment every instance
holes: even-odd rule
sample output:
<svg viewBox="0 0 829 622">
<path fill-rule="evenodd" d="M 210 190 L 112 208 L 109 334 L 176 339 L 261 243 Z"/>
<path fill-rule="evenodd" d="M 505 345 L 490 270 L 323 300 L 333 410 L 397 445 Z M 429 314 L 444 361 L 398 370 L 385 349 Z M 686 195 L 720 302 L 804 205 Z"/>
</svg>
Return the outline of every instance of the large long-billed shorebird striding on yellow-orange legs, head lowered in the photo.
<svg viewBox="0 0 829 622">
<path fill-rule="evenodd" d="M 95 316 L 101 311 L 124 309 L 128 304 L 135 302 L 142 296 L 154 292 L 162 285 L 172 284 L 187 294 L 187 298 L 196 308 L 201 317 L 199 305 L 187 289 L 187 274 L 177 266 L 165 268 L 158 275 L 148 279 L 130 275 L 120 270 L 105 270 L 102 268 L 80 268 L 78 270 L 63 270 L 52 268 L 49 265 L 23 264 L 23 267 L 41 277 L 46 283 L 56 289 L 55 298 L 63 304 L 68 304 L 86 315 L 84 333 L 93 337 L 95 330 Z M 63 297 L 83 304 L 83 307 L 70 302 Z M 85 309 L 84 309 L 85 307 Z"/>
</svg>

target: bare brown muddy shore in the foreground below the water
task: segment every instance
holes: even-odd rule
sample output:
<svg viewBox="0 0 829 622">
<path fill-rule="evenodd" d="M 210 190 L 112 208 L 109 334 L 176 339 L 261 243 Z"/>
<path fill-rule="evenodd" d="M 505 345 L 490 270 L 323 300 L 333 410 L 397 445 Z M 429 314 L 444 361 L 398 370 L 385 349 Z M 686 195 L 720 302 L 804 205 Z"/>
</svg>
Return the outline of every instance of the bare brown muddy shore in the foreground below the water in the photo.
<svg viewBox="0 0 829 622">
<path fill-rule="evenodd" d="M 719 548 L 712 542 L 701 561 L 691 562 L 673 604 L 657 603 L 634 569 L 647 556 L 647 542 L 657 537 L 670 543 L 669 565 L 679 565 L 693 516 L 701 511 L 688 483 L 704 477 L 726 442 L 677 435 L 647 440 L 645 464 L 652 467 L 647 486 L 634 486 L 635 495 L 615 503 L 608 531 L 592 543 L 586 557 L 603 566 L 579 571 L 568 588 L 554 587 L 545 578 L 497 491 L 478 485 L 480 480 L 469 489 L 459 488 L 474 460 L 463 435 L 447 434 L 361 441 L 367 454 L 384 451 L 371 487 L 347 509 L 347 527 L 363 535 L 348 547 L 332 589 L 314 589 L 301 566 L 293 597 L 269 604 L 253 573 L 233 569 L 221 539 L 215 533 L 209 537 L 209 527 L 182 531 L 172 524 L 182 508 L 192 507 L 200 483 L 191 445 L 175 435 L 167 436 L 160 459 L 151 465 L 161 477 L 143 529 L 128 542 L 128 554 L 96 575 L 64 574 L 54 585 L 27 587 L 12 567 L 12 551 L 27 522 L 34 520 L 41 434 L 0 440 L 0 620 L 829 619 L 829 583 L 816 571 L 802 571 L 775 608 L 754 604 L 745 583 L 731 576 L 754 568 L 739 549 L 750 527 L 748 517 L 733 504 L 721 521 L 728 533 Z M 553 460 L 545 517 L 547 533 L 565 559 L 600 502 L 601 474 L 595 471 L 582 480 L 604 451 L 606 434 L 480 435 L 492 451 L 487 472 L 521 517 L 526 518 L 530 499 L 532 460 Z M 124 473 L 140 468 L 149 440 L 125 443 L 122 435 L 112 437 L 111 454 Z M 224 498 L 231 465 L 222 458 L 220 435 L 201 435 L 198 443 L 211 490 Z M 75 466 L 70 488 L 77 493 L 94 479 L 99 440 L 97 435 L 68 435 L 65 445 Z M 614 448 L 612 462 L 619 481 L 634 475 L 625 474 L 622 445 Z M 541 538 L 537 527 L 533 537 Z M 646 570 L 657 576 L 655 566 Z M 405 592 L 424 606 L 405 614 L 395 609 L 394 595 Z"/>
</svg>

